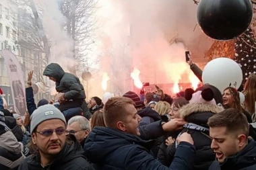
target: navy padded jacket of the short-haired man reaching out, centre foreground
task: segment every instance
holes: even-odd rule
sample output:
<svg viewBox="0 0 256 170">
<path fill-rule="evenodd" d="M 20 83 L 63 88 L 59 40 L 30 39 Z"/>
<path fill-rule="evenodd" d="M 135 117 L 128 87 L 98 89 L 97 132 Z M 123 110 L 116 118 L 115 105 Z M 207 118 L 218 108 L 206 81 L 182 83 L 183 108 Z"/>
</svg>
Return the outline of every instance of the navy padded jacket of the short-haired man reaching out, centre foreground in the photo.
<svg viewBox="0 0 256 170">
<path fill-rule="evenodd" d="M 153 132 L 152 132 L 153 133 Z M 181 142 L 170 167 L 165 167 L 150 154 L 152 140 L 120 132 L 112 128 L 95 127 L 86 140 L 86 157 L 96 164 L 96 170 L 156 170 L 191 169 L 194 146 Z"/>
</svg>

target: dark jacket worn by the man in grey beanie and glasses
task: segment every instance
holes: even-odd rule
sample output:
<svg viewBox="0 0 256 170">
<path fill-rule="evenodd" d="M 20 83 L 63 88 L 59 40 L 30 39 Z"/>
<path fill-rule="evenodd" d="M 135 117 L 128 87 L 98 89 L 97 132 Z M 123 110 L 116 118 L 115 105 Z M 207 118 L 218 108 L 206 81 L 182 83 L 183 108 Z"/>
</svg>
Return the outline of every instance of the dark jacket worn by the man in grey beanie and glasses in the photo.
<svg viewBox="0 0 256 170">
<path fill-rule="evenodd" d="M 42 167 L 40 163 L 40 155 L 30 155 L 26 157 L 19 170 L 92 170 L 92 166 L 86 161 L 84 157 L 84 150 L 78 142 L 71 142 L 65 144 L 55 161 L 47 167 Z"/>
</svg>

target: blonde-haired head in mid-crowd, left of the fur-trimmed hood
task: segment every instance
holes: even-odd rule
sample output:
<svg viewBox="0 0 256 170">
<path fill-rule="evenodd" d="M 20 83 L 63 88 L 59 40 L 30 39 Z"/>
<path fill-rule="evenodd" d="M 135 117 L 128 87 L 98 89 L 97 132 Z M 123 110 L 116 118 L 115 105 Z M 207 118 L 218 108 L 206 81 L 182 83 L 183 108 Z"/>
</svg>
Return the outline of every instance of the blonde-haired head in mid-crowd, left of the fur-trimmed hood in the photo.
<svg viewBox="0 0 256 170">
<path fill-rule="evenodd" d="M 170 104 L 166 101 L 158 101 L 158 103 L 156 103 L 154 110 L 156 110 L 156 112 L 158 112 L 158 114 L 160 114 L 162 120 L 164 120 L 164 122 L 168 122 L 170 120 L 170 116 L 168 115 L 168 113 L 170 112 Z"/>
</svg>

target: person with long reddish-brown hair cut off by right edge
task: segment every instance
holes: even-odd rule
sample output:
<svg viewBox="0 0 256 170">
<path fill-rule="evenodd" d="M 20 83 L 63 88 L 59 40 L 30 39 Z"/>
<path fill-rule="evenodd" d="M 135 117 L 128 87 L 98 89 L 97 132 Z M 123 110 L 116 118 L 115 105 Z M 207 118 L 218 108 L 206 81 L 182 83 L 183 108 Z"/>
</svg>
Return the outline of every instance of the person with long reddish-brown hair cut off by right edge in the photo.
<svg viewBox="0 0 256 170">
<path fill-rule="evenodd" d="M 251 74 L 248 77 L 243 94 L 245 95 L 245 109 L 252 115 L 253 122 L 256 122 L 256 74 Z"/>
</svg>

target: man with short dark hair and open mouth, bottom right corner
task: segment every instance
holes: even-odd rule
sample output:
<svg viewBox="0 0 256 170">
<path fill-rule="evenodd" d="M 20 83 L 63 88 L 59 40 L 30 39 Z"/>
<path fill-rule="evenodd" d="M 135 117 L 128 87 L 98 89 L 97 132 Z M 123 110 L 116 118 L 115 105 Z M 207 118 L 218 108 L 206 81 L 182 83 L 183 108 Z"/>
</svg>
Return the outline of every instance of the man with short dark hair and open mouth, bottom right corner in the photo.
<svg viewBox="0 0 256 170">
<path fill-rule="evenodd" d="M 208 120 L 216 159 L 209 170 L 256 169 L 256 142 L 248 138 L 249 124 L 238 110 L 228 109 Z"/>
</svg>

